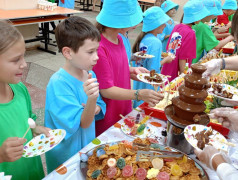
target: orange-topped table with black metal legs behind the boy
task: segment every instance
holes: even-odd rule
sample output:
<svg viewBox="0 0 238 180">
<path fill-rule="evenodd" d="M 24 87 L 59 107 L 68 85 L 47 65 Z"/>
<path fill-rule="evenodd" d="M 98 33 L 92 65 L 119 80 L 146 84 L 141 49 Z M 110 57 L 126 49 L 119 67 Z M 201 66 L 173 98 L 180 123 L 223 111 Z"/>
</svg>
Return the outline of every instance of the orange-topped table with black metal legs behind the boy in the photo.
<svg viewBox="0 0 238 180">
<path fill-rule="evenodd" d="M 56 54 L 56 52 L 53 52 L 48 48 L 48 45 L 54 45 L 50 43 L 51 32 L 49 30 L 49 22 L 64 20 L 68 16 L 78 13 L 82 12 L 63 7 L 57 7 L 54 11 L 40 9 L 0 10 L 0 19 L 9 19 L 14 26 L 41 23 L 40 29 L 42 30 L 42 35 L 33 39 L 25 40 L 25 42 L 41 41 L 44 43 L 44 48 L 38 47 L 38 49 L 51 54 Z"/>
</svg>

